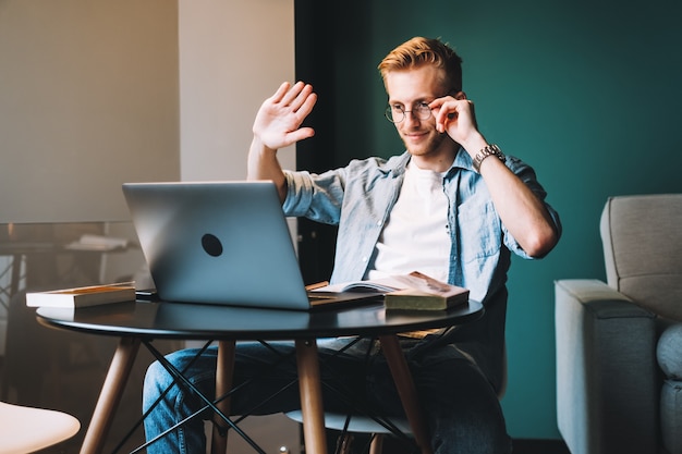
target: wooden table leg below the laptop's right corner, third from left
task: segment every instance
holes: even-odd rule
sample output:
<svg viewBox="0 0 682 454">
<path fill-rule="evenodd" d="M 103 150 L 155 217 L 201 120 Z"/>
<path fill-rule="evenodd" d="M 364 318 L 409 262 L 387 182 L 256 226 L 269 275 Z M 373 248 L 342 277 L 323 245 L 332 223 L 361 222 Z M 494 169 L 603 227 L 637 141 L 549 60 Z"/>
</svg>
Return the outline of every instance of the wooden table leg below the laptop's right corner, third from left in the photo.
<svg viewBox="0 0 682 454">
<path fill-rule="evenodd" d="M 317 343 L 312 340 L 296 341 L 299 390 L 303 413 L 303 441 L 305 452 L 327 454 L 327 434 L 322 408 L 322 389 L 319 377 Z"/>
</svg>

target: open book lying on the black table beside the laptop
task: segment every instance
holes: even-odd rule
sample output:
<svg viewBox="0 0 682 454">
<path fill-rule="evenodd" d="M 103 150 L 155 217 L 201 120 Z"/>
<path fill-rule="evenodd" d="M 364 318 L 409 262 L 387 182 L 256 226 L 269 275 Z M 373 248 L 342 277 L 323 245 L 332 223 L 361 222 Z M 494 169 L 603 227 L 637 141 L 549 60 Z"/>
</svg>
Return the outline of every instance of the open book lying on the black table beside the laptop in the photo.
<svg viewBox="0 0 682 454">
<path fill-rule="evenodd" d="M 443 310 L 468 302 L 467 289 L 450 285 L 418 271 L 372 281 L 332 284 L 315 290 L 381 293 L 387 309 Z"/>
</svg>

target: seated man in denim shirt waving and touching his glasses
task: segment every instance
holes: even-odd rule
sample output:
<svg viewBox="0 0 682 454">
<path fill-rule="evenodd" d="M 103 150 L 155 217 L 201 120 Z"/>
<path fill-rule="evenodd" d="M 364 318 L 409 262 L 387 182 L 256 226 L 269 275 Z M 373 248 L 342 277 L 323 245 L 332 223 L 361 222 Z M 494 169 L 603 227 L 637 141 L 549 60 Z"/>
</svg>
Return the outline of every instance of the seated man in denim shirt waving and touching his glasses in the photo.
<svg viewBox="0 0 682 454">
<path fill-rule="evenodd" d="M 556 211 L 547 205 L 535 172 L 506 157 L 478 131 L 473 103 L 462 91 L 460 57 L 437 39 L 413 38 L 391 51 L 379 70 L 388 94 L 387 118 L 406 151 L 388 160 L 353 161 L 322 174 L 283 171 L 277 150 L 312 137 L 302 123 L 316 102 L 309 85 L 284 83 L 261 106 L 254 122 L 248 177 L 272 180 L 288 216 L 337 223 L 337 257 L 332 283 L 422 271 L 470 289 L 485 316 L 476 322 L 402 341 L 419 401 L 428 418 L 433 449 L 444 453 L 510 453 L 511 442 L 498 403 L 504 364 L 507 271 L 513 251 L 540 258 L 560 236 Z M 319 354 L 337 380 L 355 395 L 401 414 L 390 372 L 380 352 L 356 345 L 327 358 L 348 340 L 321 342 Z M 293 348 L 278 345 L 282 352 Z M 169 355 L 179 368 L 192 352 Z M 258 377 L 272 353 L 259 344 L 238 345 L 235 380 Z M 331 361 L 331 363 L 330 363 Z M 195 363 L 188 376 L 215 390 L 215 351 Z M 257 380 L 236 394 L 233 414 L 251 409 L 256 398 L 278 389 L 282 380 Z M 145 380 L 145 408 L 170 384 L 154 364 Z M 297 408 L 297 391 L 279 394 L 259 413 Z M 333 395 L 328 409 L 341 408 Z M 150 439 L 181 420 L 197 403 L 174 386 L 145 422 Z M 148 452 L 203 452 L 200 421 L 185 425 Z"/>
</svg>

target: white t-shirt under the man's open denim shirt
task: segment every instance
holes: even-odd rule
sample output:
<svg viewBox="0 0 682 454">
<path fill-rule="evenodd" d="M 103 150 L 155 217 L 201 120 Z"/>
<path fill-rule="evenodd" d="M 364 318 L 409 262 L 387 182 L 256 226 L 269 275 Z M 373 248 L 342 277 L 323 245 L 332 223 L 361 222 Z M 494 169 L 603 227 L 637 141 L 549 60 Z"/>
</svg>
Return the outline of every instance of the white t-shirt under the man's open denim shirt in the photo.
<svg viewBox="0 0 682 454">
<path fill-rule="evenodd" d="M 410 162 L 400 195 L 383 226 L 367 279 L 421 271 L 448 281 L 450 234 L 443 173 Z"/>
</svg>

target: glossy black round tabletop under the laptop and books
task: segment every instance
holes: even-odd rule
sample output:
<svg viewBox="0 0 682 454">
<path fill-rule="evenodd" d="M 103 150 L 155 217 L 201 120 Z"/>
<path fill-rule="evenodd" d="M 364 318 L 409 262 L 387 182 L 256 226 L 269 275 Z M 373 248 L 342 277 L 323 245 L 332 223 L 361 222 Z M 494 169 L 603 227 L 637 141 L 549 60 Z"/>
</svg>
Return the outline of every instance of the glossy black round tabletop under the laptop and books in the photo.
<svg viewBox="0 0 682 454">
<path fill-rule="evenodd" d="M 185 340 L 292 340 L 380 335 L 475 320 L 470 302 L 447 311 L 387 311 L 381 302 L 343 309 L 296 311 L 168 302 L 129 302 L 81 309 L 40 307 L 38 321 L 94 334 Z"/>
</svg>

